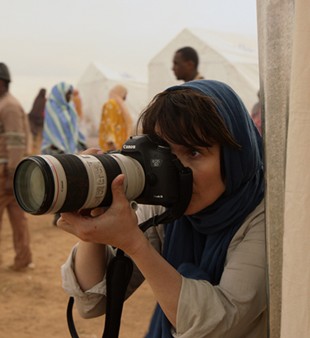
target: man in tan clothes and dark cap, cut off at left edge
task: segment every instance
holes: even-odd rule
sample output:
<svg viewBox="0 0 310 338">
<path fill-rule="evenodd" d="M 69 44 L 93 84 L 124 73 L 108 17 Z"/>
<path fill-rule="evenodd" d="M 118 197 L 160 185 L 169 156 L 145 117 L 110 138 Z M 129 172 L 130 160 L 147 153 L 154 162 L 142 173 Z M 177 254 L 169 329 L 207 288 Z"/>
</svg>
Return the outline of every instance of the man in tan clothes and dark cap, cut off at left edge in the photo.
<svg viewBox="0 0 310 338">
<path fill-rule="evenodd" d="M 13 193 L 13 176 L 19 161 L 27 154 L 30 137 L 27 116 L 20 103 L 9 93 L 8 67 L 0 62 L 0 230 L 5 209 L 12 226 L 16 271 L 32 267 L 30 236 L 25 212 Z"/>
</svg>

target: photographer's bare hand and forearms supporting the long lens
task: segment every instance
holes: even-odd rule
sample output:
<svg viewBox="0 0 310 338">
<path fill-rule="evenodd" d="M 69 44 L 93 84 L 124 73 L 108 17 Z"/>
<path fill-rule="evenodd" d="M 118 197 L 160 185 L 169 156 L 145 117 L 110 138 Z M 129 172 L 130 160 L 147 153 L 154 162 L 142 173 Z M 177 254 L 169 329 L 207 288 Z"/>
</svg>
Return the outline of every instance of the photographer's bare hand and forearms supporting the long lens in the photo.
<svg viewBox="0 0 310 338">
<path fill-rule="evenodd" d="M 124 178 L 121 174 L 113 180 L 113 202 L 109 208 L 96 208 L 88 215 L 83 215 L 83 212 L 63 213 L 57 225 L 82 240 L 75 257 L 75 274 L 82 290 L 90 289 L 103 279 L 106 248 L 98 244 L 112 245 L 133 259 L 175 327 L 181 275 L 139 229 L 135 211 L 124 193 Z"/>
</svg>

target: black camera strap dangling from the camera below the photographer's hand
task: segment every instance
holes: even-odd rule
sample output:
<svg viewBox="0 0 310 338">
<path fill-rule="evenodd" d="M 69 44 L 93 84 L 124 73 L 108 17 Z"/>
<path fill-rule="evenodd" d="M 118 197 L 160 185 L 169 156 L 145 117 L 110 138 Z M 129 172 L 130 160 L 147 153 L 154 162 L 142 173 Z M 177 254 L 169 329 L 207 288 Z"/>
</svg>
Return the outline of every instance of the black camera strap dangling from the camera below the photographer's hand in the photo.
<svg viewBox="0 0 310 338">
<path fill-rule="evenodd" d="M 139 224 L 139 228 L 143 232 L 151 226 L 167 224 L 181 217 L 190 202 L 193 187 L 192 171 L 184 167 L 177 158 L 174 159 L 174 164 L 179 173 L 180 191 L 178 203 L 171 208 L 167 208 L 162 214 L 155 215 Z M 118 249 L 116 256 L 111 260 L 107 268 L 107 304 L 102 338 L 117 338 L 119 335 L 123 304 L 132 271 L 132 260 L 125 256 L 123 251 Z M 73 303 L 74 299 L 70 297 L 67 307 L 67 322 L 71 337 L 79 338 L 72 316 Z"/>
</svg>

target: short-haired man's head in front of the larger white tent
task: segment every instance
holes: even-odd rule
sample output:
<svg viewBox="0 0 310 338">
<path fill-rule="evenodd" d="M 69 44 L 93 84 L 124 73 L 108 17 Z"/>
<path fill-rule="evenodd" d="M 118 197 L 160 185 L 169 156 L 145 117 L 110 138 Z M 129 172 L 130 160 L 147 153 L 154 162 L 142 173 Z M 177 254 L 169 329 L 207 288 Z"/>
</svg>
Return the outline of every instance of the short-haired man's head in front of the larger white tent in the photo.
<svg viewBox="0 0 310 338">
<path fill-rule="evenodd" d="M 198 72 L 199 57 L 192 47 L 178 49 L 173 57 L 173 72 L 177 80 L 184 82 L 201 80 L 203 77 Z"/>
</svg>

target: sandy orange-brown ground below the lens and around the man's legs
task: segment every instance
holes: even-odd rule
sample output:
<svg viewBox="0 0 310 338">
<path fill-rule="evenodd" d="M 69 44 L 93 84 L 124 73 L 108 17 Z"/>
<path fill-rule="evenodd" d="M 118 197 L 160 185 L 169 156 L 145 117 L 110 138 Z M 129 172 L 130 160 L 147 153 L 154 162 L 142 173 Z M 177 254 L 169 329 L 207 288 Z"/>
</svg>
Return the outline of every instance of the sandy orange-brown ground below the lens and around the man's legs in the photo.
<svg viewBox="0 0 310 338">
<path fill-rule="evenodd" d="M 25 272 L 12 264 L 11 227 L 4 217 L 0 254 L 0 338 L 70 338 L 66 321 L 68 296 L 61 287 L 60 266 L 76 238 L 52 225 L 52 215 L 28 215 L 35 268 Z M 143 337 L 154 308 L 144 283 L 125 303 L 120 338 Z M 80 338 L 102 337 L 104 317 L 82 319 L 74 310 Z"/>
</svg>

